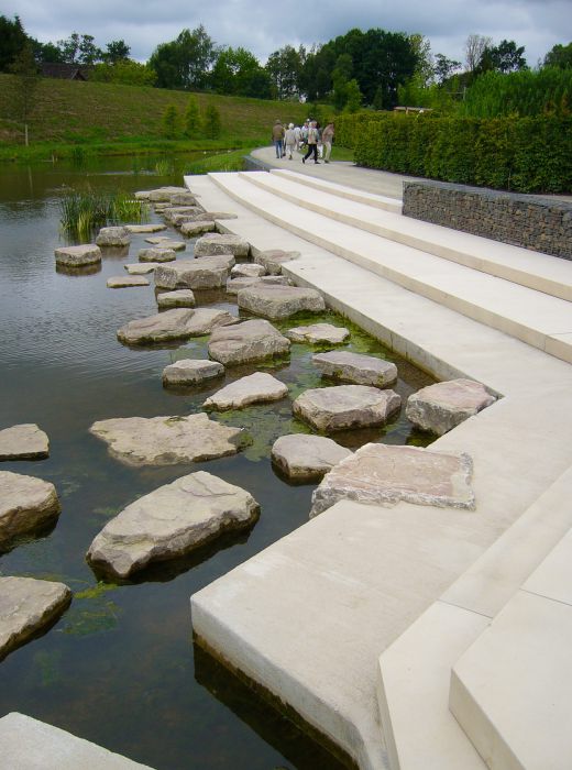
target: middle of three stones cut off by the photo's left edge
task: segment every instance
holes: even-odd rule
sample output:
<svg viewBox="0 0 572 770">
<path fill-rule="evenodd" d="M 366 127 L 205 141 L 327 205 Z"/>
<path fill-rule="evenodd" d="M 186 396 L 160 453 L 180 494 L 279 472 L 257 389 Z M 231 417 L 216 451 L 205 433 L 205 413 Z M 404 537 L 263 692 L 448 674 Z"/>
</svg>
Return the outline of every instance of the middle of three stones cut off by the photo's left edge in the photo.
<svg viewBox="0 0 572 770">
<path fill-rule="evenodd" d="M 50 482 L 0 471 L 0 550 L 41 529 L 59 514 L 56 488 Z"/>
</svg>

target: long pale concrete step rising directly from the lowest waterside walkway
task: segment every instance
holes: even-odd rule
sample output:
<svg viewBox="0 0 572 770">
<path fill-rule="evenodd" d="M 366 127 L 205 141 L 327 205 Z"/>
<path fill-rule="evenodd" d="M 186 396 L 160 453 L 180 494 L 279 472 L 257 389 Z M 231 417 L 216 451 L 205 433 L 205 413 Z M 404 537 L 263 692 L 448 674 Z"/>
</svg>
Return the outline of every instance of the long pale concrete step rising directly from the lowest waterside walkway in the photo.
<svg viewBox="0 0 572 770">
<path fill-rule="evenodd" d="M 260 174 L 264 173 L 254 174 L 260 184 Z M 209 176 L 242 206 L 306 241 L 455 312 L 572 362 L 572 304 L 332 220 L 270 194 L 268 189 L 253 184 L 250 175 Z"/>
</svg>

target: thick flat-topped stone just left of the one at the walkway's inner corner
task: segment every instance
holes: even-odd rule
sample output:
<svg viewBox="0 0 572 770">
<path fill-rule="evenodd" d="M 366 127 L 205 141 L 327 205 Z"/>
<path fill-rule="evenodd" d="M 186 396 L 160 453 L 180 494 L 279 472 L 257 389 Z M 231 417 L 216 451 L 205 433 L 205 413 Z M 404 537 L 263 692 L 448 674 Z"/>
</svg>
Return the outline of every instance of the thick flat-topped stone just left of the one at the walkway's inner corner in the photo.
<svg viewBox="0 0 572 770">
<path fill-rule="evenodd" d="M 367 385 L 336 385 L 305 391 L 293 404 L 294 414 L 322 432 L 382 426 L 402 406 L 394 391 Z"/>
</svg>

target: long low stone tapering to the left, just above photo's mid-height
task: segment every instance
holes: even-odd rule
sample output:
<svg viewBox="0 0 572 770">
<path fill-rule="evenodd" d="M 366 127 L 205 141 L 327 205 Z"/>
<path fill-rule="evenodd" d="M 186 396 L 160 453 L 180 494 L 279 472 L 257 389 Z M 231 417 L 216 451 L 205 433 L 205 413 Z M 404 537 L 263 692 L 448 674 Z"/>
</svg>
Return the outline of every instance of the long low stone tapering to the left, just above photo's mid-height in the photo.
<svg viewBox="0 0 572 770">
<path fill-rule="evenodd" d="M 118 340 L 131 345 L 187 340 L 189 337 L 208 334 L 218 326 L 235 321 L 237 319 L 230 312 L 217 308 L 198 310 L 176 308 L 130 321 L 118 329 Z"/>
</svg>

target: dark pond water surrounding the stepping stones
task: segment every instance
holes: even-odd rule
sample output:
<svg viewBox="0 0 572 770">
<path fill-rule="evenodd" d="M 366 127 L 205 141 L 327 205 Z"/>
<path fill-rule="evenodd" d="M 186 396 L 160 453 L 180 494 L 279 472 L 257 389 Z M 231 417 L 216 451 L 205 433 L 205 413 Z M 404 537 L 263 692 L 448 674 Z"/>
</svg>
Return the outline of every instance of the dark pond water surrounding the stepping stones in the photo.
<svg viewBox="0 0 572 770">
<path fill-rule="evenodd" d="M 156 312 L 153 286 L 106 288 L 108 277 L 124 274 L 125 262 L 136 262 L 138 250 L 147 245 L 144 235 L 133 237 L 129 257 L 105 257 L 101 271 L 91 275 L 55 271 L 54 249 L 68 242 L 58 229 L 65 188 L 133 191 L 182 184 L 183 167 L 170 176 L 151 176 L 145 165 L 154 167 L 150 161 L 106 158 L 89 167 L 0 168 L 0 428 L 37 422 L 51 440 L 50 459 L 4 462 L 1 470 L 53 482 L 62 501 L 55 528 L 1 556 L 0 574 L 59 580 L 75 592 L 70 608 L 47 634 L 0 663 L 0 716 L 29 714 L 157 770 L 341 767 L 191 639 L 189 596 L 308 518 L 314 486 L 286 484 L 270 462 L 279 435 L 308 430 L 293 419 L 290 402 L 213 415 L 248 427 L 253 444 L 237 457 L 193 465 L 128 468 L 88 432 L 95 420 L 109 417 L 190 414 L 220 387 L 220 382 L 200 392 L 162 387 L 166 364 L 206 358 L 206 338 L 141 350 L 117 341 L 119 327 Z M 189 241 L 185 256 L 191 251 Z M 238 315 L 223 294 L 199 296 L 199 302 Z M 332 319 L 342 322 L 331 314 L 317 320 Z M 429 384 L 426 375 L 351 329 L 350 350 L 397 363 L 402 397 Z M 267 367 L 293 396 L 322 384 L 311 353 L 294 344 L 289 361 Z M 253 371 L 231 371 L 226 382 Z M 384 430 L 348 432 L 337 440 L 350 447 L 367 440 L 427 442 L 404 417 Z M 132 583 L 98 582 L 85 552 L 105 524 L 136 497 L 197 470 L 251 492 L 262 508 L 254 528 Z"/>
</svg>

